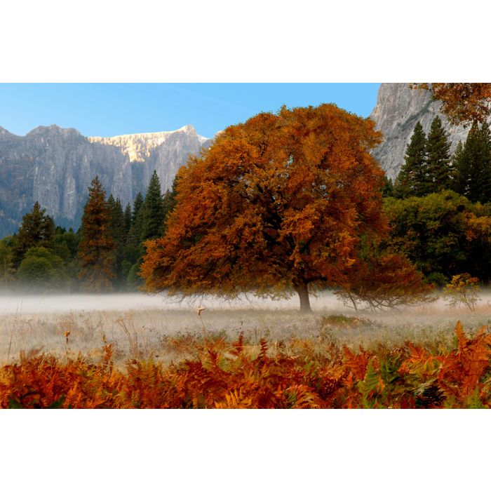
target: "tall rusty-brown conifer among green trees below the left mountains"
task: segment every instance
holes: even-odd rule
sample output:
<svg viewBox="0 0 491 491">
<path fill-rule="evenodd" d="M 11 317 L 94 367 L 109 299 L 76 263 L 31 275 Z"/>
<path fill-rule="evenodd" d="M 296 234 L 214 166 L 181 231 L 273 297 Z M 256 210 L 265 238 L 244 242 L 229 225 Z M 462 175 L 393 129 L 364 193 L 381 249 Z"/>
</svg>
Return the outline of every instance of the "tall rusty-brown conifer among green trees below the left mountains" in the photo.
<svg viewBox="0 0 491 491">
<path fill-rule="evenodd" d="M 86 291 L 112 290 L 114 278 L 114 241 L 111 236 L 111 213 L 105 191 L 96 176 L 88 188 L 83 208 L 79 245 L 79 279 Z"/>
</svg>

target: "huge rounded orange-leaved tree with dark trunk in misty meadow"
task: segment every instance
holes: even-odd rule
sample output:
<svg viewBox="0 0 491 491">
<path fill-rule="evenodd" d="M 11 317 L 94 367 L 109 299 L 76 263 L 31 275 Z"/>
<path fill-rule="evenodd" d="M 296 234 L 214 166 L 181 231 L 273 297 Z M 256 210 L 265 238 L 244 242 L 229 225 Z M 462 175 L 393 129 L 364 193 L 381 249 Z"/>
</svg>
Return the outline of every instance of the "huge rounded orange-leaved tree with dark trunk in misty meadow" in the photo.
<svg viewBox="0 0 491 491">
<path fill-rule="evenodd" d="M 337 284 L 361 234 L 383 233 L 374 123 L 335 105 L 229 126 L 180 170 L 177 206 L 141 267 L 148 290 L 236 295 Z"/>
</svg>

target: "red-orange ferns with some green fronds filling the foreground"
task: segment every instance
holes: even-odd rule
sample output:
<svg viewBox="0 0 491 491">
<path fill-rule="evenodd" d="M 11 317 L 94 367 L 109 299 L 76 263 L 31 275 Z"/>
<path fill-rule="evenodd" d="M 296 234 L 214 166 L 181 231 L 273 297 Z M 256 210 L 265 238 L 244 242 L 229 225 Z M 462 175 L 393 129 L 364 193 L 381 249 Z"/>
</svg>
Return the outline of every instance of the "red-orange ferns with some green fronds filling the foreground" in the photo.
<svg viewBox="0 0 491 491">
<path fill-rule="evenodd" d="M 491 335 L 455 328 L 455 348 L 353 351 L 289 339 L 283 347 L 206 339 L 180 363 L 66 361 L 36 353 L 0 368 L 0 408 L 490 408 Z"/>
</svg>

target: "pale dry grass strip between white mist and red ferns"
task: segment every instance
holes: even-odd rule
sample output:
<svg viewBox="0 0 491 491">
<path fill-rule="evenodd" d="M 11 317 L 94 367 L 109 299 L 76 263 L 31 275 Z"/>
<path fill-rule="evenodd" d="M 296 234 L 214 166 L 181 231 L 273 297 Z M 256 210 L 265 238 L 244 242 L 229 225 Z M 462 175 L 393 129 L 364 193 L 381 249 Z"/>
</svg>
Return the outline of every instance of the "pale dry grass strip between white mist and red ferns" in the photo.
<svg viewBox="0 0 491 491">
<path fill-rule="evenodd" d="M 372 349 L 379 344 L 395 347 L 408 339 L 448 347 L 458 319 L 467 332 L 476 332 L 481 325 L 491 324 L 491 307 L 481 303 L 471 313 L 429 304 L 394 313 L 357 314 L 338 308 L 309 315 L 292 309 L 208 307 L 201 316 L 197 316 L 194 307 L 53 314 L 18 311 L 0 316 L 0 363 L 17 361 L 21 352 L 33 349 L 55 356 L 80 352 L 89 359 L 98 359 L 102 339 L 113 345 L 116 365 L 128 358 L 149 357 L 169 363 L 192 356 L 203 337 L 230 342 L 240 332 L 249 344 L 257 346 L 263 338 L 271 347 L 290 339 L 331 339 L 352 349 Z M 69 335 L 65 336 L 67 332 Z"/>
</svg>

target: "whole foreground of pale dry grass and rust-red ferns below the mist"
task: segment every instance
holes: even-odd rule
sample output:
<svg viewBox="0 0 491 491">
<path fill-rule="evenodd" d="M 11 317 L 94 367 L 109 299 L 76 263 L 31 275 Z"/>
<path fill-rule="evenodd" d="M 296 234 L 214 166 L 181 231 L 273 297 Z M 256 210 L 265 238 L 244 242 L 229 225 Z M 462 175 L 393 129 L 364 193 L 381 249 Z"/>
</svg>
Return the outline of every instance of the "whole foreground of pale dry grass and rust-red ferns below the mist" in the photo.
<svg viewBox="0 0 491 491">
<path fill-rule="evenodd" d="M 487 311 L 456 313 L 4 317 L 0 407 L 489 408 Z"/>
</svg>

